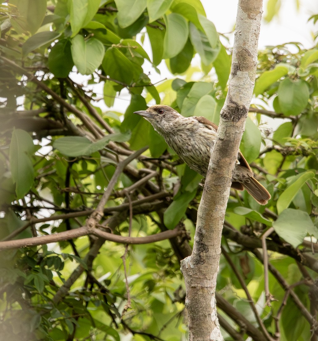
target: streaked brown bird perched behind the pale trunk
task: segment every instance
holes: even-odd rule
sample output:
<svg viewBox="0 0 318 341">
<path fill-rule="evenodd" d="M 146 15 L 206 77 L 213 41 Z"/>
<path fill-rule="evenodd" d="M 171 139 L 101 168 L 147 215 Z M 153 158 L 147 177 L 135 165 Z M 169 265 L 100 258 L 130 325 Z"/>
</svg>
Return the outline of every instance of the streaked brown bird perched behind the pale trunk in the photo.
<svg viewBox="0 0 318 341">
<path fill-rule="evenodd" d="M 184 117 L 168 105 L 160 104 L 134 114 L 149 121 L 190 168 L 206 177 L 217 134 L 216 124 L 202 116 Z M 231 188 L 238 191 L 246 189 L 260 205 L 266 205 L 271 198 L 267 189 L 254 178 L 253 170 L 241 151 L 232 174 Z"/>
</svg>

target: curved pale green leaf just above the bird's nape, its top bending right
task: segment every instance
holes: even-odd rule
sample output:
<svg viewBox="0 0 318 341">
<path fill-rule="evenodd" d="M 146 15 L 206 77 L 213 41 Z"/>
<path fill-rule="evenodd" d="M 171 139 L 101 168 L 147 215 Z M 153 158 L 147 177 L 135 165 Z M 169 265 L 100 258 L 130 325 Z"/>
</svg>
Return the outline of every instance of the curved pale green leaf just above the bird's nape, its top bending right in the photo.
<svg viewBox="0 0 318 341">
<path fill-rule="evenodd" d="M 181 107 L 181 115 L 188 117 L 193 116 L 195 106 L 201 97 L 213 90 L 212 83 L 196 82 L 187 93 Z M 202 116 L 202 115 L 201 115 Z"/>
</svg>

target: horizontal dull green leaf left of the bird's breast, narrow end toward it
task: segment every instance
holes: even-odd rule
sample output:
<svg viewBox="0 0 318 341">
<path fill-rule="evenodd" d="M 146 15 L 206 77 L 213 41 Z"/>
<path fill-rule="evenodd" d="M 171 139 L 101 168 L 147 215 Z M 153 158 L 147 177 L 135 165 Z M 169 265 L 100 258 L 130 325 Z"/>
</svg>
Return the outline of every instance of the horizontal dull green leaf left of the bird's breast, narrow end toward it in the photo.
<svg viewBox="0 0 318 341">
<path fill-rule="evenodd" d="M 109 141 L 125 142 L 129 139 L 130 133 L 109 134 L 97 142 L 91 142 L 84 136 L 66 136 L 55 140 L 53 147 L 62 154 L 69 157 L 79 157 L 91 155 L 92 153 L 103 149 Z"/>
</svg>

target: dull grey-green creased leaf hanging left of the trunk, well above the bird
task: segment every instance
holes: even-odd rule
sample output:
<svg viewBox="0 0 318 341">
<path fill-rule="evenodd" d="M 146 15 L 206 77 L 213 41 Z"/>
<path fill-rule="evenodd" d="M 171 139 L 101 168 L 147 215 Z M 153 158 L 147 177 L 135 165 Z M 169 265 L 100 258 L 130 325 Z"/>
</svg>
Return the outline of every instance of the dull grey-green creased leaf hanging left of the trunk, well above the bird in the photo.
<svg viewBox="0 0 318 341">
<path fill-rule="evenodd" d="M 191 43 L 201 57 L 202 63 L 211 64 L 217 58 L 221 44 L 217 44 L 215 48 L 211 47 L 206 34 L 198 30 L 192 23 L 189 23 L 189 30 Z"/>
</svg>

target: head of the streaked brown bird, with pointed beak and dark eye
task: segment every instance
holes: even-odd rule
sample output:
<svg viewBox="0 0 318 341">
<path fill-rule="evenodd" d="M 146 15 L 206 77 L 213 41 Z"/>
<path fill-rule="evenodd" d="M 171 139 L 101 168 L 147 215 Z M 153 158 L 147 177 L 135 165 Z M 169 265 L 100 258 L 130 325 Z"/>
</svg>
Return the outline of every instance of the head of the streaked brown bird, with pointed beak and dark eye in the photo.
<svg viewBox="0 0 318 341">
<path fill-rule="evenodd" d="M 168 129 L 171 123 L 182 117 L 175 109 L 168 105 L 153 105 L 147 110 L 135 111 L 134 114 L 145 117 L 156 130 Z"/>
</svg>

